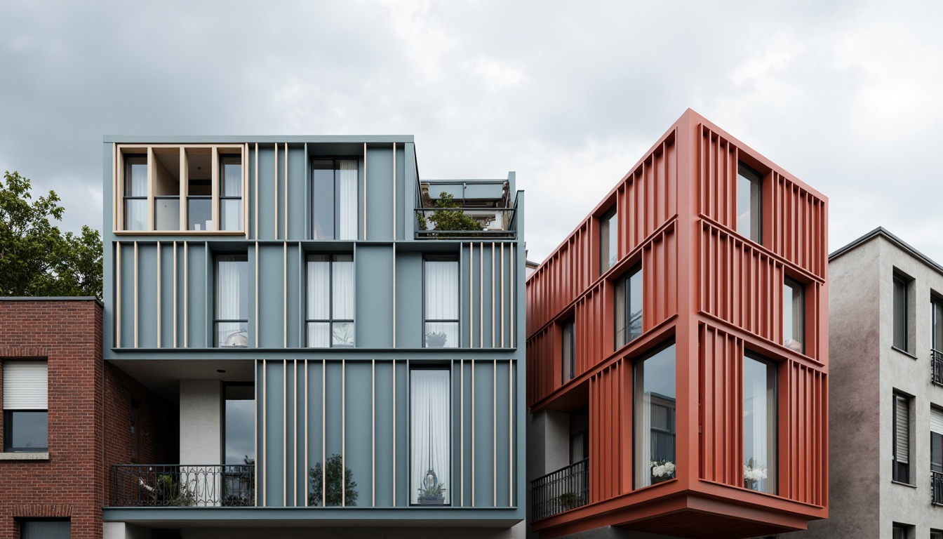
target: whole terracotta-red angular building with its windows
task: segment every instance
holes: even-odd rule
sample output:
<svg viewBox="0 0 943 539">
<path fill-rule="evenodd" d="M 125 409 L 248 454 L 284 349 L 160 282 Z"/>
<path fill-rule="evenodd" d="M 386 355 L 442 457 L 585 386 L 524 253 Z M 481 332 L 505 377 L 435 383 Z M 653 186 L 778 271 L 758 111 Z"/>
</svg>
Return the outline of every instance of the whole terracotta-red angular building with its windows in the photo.
<svg viewBox="0 0 943 539">
<path fill-rule="evenodd" d="M 827 204 L 688 109 L 539 265 L 527 402 L 553 417 L 532 531 L 754 537 L 827 516 Z"/>
</svg>

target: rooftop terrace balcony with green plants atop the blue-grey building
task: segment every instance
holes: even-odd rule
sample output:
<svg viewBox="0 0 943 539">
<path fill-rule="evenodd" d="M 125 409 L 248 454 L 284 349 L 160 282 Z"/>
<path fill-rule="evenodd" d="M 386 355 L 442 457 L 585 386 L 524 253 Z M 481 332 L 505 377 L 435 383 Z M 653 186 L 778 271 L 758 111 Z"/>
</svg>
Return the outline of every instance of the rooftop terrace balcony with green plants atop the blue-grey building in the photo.
<svg viewBox="0 0 943 539">
<path fill-rule="evenodd" d="M 507 180 L 422 181 L 417 194 L 418 240 L 517 237 Z"/>
</svg>

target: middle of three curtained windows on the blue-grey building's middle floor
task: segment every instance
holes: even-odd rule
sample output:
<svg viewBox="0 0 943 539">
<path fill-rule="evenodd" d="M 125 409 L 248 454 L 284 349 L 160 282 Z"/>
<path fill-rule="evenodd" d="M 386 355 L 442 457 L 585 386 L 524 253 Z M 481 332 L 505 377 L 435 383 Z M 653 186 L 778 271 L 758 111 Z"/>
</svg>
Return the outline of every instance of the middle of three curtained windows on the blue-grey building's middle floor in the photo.
<svg viewBox="0 0 943 539">
<path fill-rule="evenodd" d="M 354 345 L 354 255 L 308 256 L 307 345 Z"/>
</svg>

